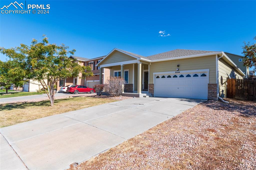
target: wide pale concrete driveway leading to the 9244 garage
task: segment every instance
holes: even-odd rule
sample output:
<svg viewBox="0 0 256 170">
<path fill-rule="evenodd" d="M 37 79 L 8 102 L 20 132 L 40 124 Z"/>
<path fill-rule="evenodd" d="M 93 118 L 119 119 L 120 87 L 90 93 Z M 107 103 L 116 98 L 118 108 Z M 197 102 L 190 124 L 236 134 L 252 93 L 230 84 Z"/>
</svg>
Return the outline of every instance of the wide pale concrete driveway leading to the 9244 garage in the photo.
<svg viewBox="0 0 256 170">
<path fill-rule="evenodd" d="M 0 169 L 67 169 L 202 101 L 132 98 L 1 128 Z"/>
</svg>

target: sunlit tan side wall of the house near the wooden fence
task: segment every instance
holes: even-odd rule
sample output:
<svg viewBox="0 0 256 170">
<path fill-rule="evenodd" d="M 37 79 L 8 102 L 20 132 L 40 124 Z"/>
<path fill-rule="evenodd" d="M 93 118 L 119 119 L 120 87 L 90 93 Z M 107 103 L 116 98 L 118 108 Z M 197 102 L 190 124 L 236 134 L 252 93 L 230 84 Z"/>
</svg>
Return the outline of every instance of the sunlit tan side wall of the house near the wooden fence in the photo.
<svg viewBox="0 0 256 170">
<path fill-rule="evenodd" d="M 228 75 L 230 78 L 239 78 L 242 79 L 243 76 L 239 74 L 232 66 L 230 66 L 225 60 L 222 58 L 219 59 L 219 94 L 221 94 L 221 91 L 224 90 L 224 94 L 226 94 L 226 88 L 227 83 L 225 82 L 228 78 Z M 236 76 L 234 77 L 234 74 Z"/>
</svg>

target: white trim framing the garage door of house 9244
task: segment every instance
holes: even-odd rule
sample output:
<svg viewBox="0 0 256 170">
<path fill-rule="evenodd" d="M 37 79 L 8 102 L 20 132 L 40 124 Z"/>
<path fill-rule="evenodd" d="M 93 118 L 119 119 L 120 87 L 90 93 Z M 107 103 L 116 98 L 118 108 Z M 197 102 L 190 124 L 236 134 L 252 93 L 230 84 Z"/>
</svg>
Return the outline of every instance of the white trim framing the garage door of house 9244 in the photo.
<svg viewBox="0 0 256 170">
<path fill-rule="evenodd" d="M 155 95 L 155 89 L 156 89 L 156 84 L 155 84 L 155 79 L 156 79 L 156 75 L 168 75 L 168 74 L 186 74 L 186 73 L 207 73 L 207 86 L 206 86 L 206 90 L 207 90 L 207 93 L 208 93 L 208 83 L 209 83 L 209 71 L 210 69 L 201 69 L 201 70 L 185 70 L 185 71 L 166 71 L 166 72 L 153 72 L 153 84 L 154 84 L 154 96 Z"/>
</svg>

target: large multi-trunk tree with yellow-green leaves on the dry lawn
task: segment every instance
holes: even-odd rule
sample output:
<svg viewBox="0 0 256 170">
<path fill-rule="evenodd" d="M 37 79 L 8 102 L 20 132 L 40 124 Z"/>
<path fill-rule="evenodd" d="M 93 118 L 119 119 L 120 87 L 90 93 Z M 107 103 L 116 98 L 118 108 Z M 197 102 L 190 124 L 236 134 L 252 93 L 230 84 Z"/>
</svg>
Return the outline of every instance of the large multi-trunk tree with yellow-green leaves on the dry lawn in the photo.
<svg viewBox="0 0 256 170">
<path fill-rule="evenodd" d="M 50 44 L 46 35 L 41 42 L 33 39 L 31 45 L 20 44 L 19 47 L 5 49 L 0 52 L 10 59 L 22 63 L 26 79 L 39 82 L 46 91 L 51 106 L 54 105 L 54 86 L 62 79 L 70 77 L 93 76 L 91 67 L 83 66 L 79 61 L 67 57 L 73 55 L 76 50 L 68 51 L 65 44 Z M 79 76 L 82 73 L 82 76 Z"/>
</svg>

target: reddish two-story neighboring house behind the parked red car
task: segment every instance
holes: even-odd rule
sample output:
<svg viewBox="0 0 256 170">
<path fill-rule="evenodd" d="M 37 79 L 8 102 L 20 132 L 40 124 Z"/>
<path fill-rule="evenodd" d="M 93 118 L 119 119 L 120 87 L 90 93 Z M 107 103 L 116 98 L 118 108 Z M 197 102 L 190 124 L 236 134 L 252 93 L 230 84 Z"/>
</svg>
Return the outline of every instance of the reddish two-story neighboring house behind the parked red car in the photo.
<svg viewBox="0 0 256 170">
<path fill-rule="evenodd" d="M 92 88 L 94 84 L 100 83 L 100 71 L 99 67 L 96 66 L 97 63 L 100 62 L 101 59 L 103 59 L 105 56 L 97 57 L 97 58 L 84 58 L 84 57 L 78 57 L 71 55 L 70 58 L 76 59 L 76 62 L 80 62 L 81 65 L 84 66 L 90 66 L 93 72 L 93 76 L 91 77 L 82 77 L 82 73 L 79 74 L 78 77 L 70 77 L 67 79 L 63 79 L 57 82 L 57 91 L 60 90 L 63 86 L 68 85 L 83 85 L 87 86 L 89 88 Z M 82 78 L 79 78 L 82 77 Z M 102 82 L 105 82 L 110 77 L 110 70 L 104 69 L 102 72 Z"/>
</svg>

